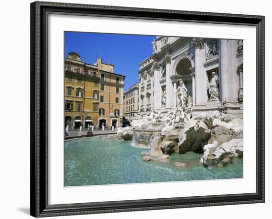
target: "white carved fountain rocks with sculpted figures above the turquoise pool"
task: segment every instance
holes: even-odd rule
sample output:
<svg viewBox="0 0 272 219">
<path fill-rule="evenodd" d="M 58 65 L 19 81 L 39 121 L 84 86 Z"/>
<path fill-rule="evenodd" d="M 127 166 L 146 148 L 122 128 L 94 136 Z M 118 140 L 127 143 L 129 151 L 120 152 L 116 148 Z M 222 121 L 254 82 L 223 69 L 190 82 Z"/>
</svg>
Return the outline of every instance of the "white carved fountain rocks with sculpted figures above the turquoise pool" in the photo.
<svg viewBox="0 0 272 219">
<path fill-rule="evenodd" d="M 165 162 L 169 155 L 186 151 L 202 152 L 200 162 L 206 166 L 223 167 L 234 157 L 242 158 L 243 121 L 226 115 L 227 103 L 223 101 L 217 113 L 191 118 L 190 96 L 184 90 L 181 94 L 180 105 L 167 114 L 152 110 L 149 116 L 134 120 L 131 127 L 118 128 L 119 139 L 150 147 L 150 152 L 141 153 L 144 161 Z"/>
</svg>

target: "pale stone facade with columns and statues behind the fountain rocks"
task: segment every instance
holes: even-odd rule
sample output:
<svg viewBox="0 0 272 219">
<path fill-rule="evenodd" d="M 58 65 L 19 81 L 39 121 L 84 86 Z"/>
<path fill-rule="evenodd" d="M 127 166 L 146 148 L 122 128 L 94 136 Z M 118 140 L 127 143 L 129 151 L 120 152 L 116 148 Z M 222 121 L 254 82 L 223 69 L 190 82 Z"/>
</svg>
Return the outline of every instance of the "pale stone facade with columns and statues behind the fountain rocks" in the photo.
<svg viewBox="0 0 272 219">
<path fill-rule="evenodd" d="M 153 54 L 139 64 L 139 115 L 166 113 L 178 106 L 182 80 L 191 97 L 193 116 L 218 110 L 242 118 L 243 41 L 156 37 Z"/>
</svg>

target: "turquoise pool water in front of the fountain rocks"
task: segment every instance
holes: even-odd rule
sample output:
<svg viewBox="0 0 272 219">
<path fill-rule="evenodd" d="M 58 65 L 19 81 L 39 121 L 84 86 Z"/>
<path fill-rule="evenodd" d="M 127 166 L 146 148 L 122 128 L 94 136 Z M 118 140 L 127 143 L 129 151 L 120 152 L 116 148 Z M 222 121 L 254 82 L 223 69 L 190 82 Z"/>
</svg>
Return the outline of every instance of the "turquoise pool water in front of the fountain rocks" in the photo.
<svg viewBox="0 0 272 219">
<path fill-rule="evenodd" d="M 200 164 L 201 154 L 173 154 L 166 163 L 142 161 L 146 148 L 131 141 L 94 137 L 64 144 L 64 186 L 167 182 L 243 177 L 243 159 L 234 158 L 223 168 L 208 169 Z M 178 168 L 173 162 L 187 164 Z"/>
</svg>

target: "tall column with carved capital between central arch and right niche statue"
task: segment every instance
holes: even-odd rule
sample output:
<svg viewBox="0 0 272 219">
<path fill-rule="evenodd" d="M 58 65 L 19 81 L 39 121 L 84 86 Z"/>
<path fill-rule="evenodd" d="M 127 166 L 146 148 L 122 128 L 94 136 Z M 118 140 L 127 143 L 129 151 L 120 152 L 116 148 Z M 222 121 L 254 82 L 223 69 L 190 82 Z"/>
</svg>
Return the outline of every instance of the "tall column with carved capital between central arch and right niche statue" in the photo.
<svg viewBox="0 0 272 219">
<path fill-rule="evenodd" d="M 205 104 L 208 102 L 207 95 L 207 73 L 204 68 L 205 49 L 204 39 L 196 38 L 192 44 L 195 47 L 195 104 Z"/>
</svg>

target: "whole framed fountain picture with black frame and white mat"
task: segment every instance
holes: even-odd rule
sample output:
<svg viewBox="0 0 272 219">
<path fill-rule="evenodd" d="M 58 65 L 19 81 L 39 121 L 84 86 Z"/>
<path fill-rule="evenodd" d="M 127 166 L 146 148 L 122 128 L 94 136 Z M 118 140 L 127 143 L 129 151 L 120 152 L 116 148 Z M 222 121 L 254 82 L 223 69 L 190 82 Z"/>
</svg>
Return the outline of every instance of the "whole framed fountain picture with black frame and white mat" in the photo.
<svg viewBox="0 0 272 219">
<path fill-rule="evenodd" d="M 31 215 L 264 202 L 264 22 L 31 3 Z"/>
</svg>

